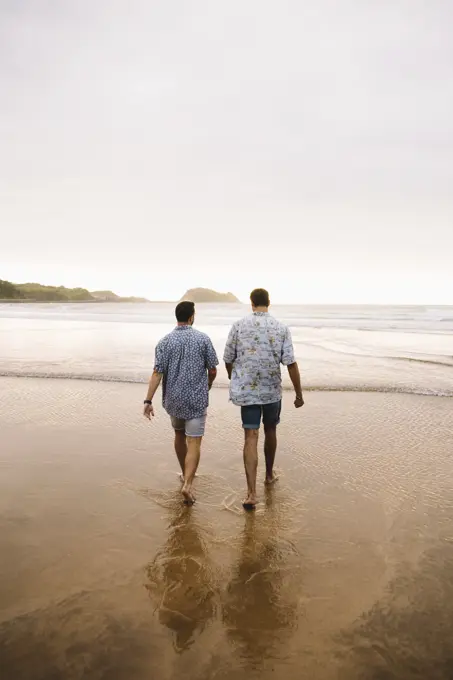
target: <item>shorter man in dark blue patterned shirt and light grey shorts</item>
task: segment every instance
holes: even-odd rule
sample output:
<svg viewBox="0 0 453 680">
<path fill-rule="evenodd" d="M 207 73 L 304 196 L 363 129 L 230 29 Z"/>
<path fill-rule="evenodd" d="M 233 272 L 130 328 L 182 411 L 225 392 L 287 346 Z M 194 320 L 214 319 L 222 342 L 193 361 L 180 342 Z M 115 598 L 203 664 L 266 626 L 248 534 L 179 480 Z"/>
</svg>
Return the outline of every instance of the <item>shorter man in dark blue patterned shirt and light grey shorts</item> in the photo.
<svg viewBox="0 0 453 680">
<path fill-rule="evenodd" d="M 194 303 L 180 302 L 175 314 L 178 325 L 156 347 L 144 415 L 149 420 L 154 416 L 152 400 L 162 382 L 163 406 L 175 430 L 175 451 L 184 476 L 182 495 L 184 502 L 192 505 L 192 483 L 200 462 L 209 390 L 219 362 L 209 337 L 193 328 Z"/>
</svg>

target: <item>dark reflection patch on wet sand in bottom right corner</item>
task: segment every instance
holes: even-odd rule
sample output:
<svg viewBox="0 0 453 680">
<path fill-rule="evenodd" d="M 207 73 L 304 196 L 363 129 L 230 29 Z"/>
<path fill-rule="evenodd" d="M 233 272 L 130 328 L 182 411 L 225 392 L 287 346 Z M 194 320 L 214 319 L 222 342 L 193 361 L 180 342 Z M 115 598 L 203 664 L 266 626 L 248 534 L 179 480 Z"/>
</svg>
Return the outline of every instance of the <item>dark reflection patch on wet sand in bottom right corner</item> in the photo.
<svg viewBox="0 0 453 680">
<path fill-rule="evenodd" d="M 427 551 L 339 641 L 338 680 L 453 678 L 453 544 Z"/>
</svg>

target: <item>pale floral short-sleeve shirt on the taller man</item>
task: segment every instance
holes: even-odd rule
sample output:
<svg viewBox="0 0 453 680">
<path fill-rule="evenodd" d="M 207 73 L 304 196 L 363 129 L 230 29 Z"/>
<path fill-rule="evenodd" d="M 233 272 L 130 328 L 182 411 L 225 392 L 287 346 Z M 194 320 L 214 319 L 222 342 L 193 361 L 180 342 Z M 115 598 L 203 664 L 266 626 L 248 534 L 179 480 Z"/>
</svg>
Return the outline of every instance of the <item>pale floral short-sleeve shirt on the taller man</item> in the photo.
<svg viewBox="0 0 453 680">
<path fill-rule="evenodd" d="M 280 401 L 280 364 L 295 363 L 290 330 L 267 312 L 254 312 L 232 327 L 223 359 L 233 364 L 233 404 L 253 406 Z"/>
</svg>

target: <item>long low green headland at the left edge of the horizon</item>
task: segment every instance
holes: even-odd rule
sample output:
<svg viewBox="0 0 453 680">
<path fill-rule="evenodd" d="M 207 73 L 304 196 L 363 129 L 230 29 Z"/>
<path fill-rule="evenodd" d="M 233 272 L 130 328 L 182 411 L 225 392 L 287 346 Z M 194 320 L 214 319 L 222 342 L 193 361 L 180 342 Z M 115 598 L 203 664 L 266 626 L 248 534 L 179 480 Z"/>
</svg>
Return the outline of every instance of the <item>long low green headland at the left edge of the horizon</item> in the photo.
<svg viewBox="0 0 453 680">
<path fill-rule="evenodd" d="M 146 298 L 120 297 L 111 290 L 42 286 L 40 283 L 11 283 L 0 279 L 0 301 L 11 302 L 149 302 Z"/>
</svg>

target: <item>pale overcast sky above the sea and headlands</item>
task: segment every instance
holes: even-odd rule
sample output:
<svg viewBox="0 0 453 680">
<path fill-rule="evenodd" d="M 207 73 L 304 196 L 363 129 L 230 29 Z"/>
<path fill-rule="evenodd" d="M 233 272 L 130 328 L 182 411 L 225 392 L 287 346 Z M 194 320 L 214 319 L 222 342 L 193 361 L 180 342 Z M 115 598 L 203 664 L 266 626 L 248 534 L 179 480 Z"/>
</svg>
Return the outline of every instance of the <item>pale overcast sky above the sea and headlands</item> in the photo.
<svg viewBox="0 0 453 680">
<path fill-rule="evenodd" d="M 0 0 L 0 278 L 453 303 L 450 0 Z"/>
</svg>

